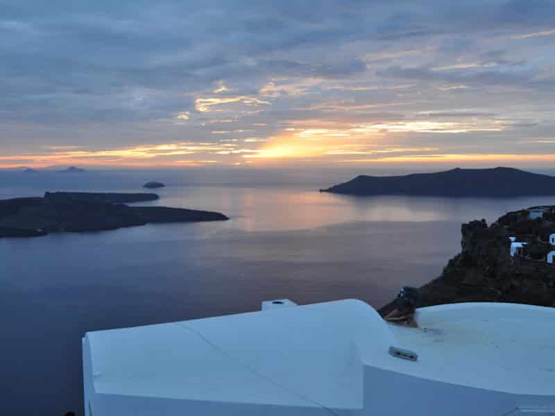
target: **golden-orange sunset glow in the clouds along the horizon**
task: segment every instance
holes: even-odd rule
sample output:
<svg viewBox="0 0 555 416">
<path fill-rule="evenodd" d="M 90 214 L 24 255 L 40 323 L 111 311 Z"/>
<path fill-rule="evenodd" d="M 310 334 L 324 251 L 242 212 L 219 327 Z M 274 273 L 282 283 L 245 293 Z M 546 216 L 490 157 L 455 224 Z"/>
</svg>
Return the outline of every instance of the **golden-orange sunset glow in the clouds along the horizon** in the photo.
<svg viewBox="0 0 555 416">
<path fill-rule="evenodd" d="M 237 97 L 236 97 L 237 98 Z M 241 101 L 244 96 L 239 97 Z M 223 98 L 223 100 L 235 98 Z M 225 101 L 229 102 L 229 101 Z M 210 110 L 210 105 L 208 106 Z M 464 134 L 502 132 L 511 128 L 505 119 L 475 116 L 447 120 L 426 120 L 434 112 L 413 113 L 407 121 L 347 123 L 310 119 L 287 121 L 276 135 L 253 137 L 257 129 L 212 130 L 207 141 L 180 141 L 167 144 L 87 150 L 78 146 L 48 146 L 43 152 L 0 156 L 0 167 L 76 164 L 81 166 L 243 166 L 252 164 L 322 163 L 434 163 L 434 162 L 553 162 L 555 156 L 515 154 L 468 154 L 443 146 L 411 146 L 413 133 Z M 454 116 L 452 116 L 454 114 Z M 187 114 L 188 116 L 188 114 Z M 444 116 L 438 113 L 438 116 Z M 184 117 L 185 119 L 185 117 Z M 232 126 L 230 126 L 232 127 Z M 229 137 L 228 135 L 234 135 Z M 218 139 L 218 137 L 222 137 Z M 208 141 L 210 140 L 210 141 Z M 421 142 L 420 142 L 421 143 Z M 452 150 L 452 149 L 450 149 Z M 252 166 L 251 165 L 251 166 Z"/>
</svg>

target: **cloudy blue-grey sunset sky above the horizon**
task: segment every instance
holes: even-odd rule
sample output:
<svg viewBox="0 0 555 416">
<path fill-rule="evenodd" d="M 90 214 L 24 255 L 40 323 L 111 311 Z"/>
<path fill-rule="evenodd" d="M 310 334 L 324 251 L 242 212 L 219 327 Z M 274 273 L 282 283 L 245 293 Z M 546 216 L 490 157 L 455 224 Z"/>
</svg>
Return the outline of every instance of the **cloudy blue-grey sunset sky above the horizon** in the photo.
<svg viewBox="0 0 555 416">
<path fill-rule="evenodd" d="M 0 168 L 555 162 L 552 0 L 0 0 L 0 56 Z"/>
</svg>

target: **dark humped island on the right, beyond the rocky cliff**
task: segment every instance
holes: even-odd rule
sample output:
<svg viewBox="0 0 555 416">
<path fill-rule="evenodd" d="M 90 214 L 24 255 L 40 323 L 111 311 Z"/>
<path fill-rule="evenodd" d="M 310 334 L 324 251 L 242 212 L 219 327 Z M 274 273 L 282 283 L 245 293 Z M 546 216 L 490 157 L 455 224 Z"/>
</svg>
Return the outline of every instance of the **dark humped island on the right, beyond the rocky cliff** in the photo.
<svg viewBox="0 0 555 416">
<path fill-rule="evenodd" d="M 515 168 L 461 169 L 402 176 L 359 175 L 321 192 L 355 196 L 407 195 L 512 198 L 555 195 L 555 177 Z"/>
</svg>

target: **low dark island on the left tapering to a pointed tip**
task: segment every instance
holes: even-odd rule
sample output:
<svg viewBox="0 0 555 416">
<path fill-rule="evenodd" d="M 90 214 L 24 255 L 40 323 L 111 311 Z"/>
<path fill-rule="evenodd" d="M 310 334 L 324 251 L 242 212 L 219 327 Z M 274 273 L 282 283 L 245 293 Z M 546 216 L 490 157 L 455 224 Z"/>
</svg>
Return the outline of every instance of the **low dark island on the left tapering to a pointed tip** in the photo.
<svg viewBox="0 0 555 416">
<path fill-rule="evenodd" d="M 157 199 L 155 193 L 46 192 L 43 197 L 0 200 L 0 238 L 229 219 L 213 211 L 135 207 L 123 203 Z"/>
</svg>

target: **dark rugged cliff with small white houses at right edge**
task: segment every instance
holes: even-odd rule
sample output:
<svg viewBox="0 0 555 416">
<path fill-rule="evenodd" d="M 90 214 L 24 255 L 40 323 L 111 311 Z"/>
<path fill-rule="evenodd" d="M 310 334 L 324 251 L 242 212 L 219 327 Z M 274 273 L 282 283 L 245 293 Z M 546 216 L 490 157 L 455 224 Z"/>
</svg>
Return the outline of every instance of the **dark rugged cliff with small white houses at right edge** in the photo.
<svg viewBox="0 0 555 416">
<path fill-rule="evenodd" d="M 555 266 L 545 261 L 545 255 L 538 255 L 554 250 L 544 238 L 555 232 L 555 223 L 549 214 L 537 220 L 527 218 L 528 211 L 518 211 L 490 227 L 485 220 L 463 224 L 461 252 L 450 259 L 440 277 L 420 288 L 420 306 L 457 302 L 555 306 Z M 529 243 L 522 256 L 511 257 L 510 236 Z M 391 310 L 393 302 L 379 312 Z"/>
</svg>

